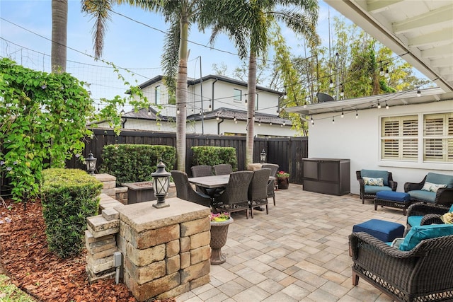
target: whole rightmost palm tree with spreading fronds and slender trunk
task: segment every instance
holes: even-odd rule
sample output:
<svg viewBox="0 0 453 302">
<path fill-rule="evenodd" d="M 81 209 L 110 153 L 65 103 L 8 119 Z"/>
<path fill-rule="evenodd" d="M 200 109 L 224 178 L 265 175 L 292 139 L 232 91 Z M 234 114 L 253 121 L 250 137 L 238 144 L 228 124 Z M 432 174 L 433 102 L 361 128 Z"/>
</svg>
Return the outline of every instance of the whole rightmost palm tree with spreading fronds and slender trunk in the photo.
<svg viewBox="0 0 453 302">
<path fill-rule="evenodd" d="M 224 0 L 222 2 L 223 6 L 217 8 L 220 11 L 219 17 L 205 20 L 202 25 L 210 25 L 214 28 L 211 42 L 214 42 L 218 33 L 226 33 L 231 40 L 234 40 L 239 55 L 243 59 L 248 52 L 246 139 L 246 165 L 248 165 L 253 161 L 256 60 L 258 57 L 265 57 L 272 39 L 270 30 L 273 23 L 277 21 L 284 23 L 294 33 L 303 35 L 307 41 L 315 45 L 319 40 L 316 34 L 319 6 L 316 0 Z"/>
</svg>

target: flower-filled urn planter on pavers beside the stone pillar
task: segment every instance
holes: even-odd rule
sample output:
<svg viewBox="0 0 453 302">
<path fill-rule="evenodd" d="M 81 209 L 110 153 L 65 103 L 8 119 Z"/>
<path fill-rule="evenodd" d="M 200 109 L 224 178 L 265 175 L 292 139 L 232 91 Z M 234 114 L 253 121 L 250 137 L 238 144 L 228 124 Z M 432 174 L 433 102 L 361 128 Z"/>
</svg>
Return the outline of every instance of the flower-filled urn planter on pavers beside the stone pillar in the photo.
<svg viewBox="0 0 453 302">
<path fill-rule="evenodd" d="M 211 213 L 211 264 L 220 265 L 226 261 L 226 257 L 222 254 L 222 247 L 226 243 L 228 236 L 228 226 L 233 223 L 233 218 L 228 212 Z"/>
</svg>

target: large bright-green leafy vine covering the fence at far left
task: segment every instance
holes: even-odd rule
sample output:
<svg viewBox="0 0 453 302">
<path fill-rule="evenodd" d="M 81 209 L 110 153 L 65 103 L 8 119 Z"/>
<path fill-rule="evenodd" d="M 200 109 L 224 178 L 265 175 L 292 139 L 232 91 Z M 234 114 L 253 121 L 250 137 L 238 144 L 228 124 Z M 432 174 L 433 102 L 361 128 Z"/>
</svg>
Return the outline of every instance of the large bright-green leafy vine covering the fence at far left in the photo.
<svg viewBox="0 0 453 302">
<path fill-rule="evenodd" d="M 70 74 L 0 60 L 0 169 L 15 201 L 38 196 L 42 169 L 62 168 L 84 149 L 93 105 L 83 86 Z"/>
</svg>

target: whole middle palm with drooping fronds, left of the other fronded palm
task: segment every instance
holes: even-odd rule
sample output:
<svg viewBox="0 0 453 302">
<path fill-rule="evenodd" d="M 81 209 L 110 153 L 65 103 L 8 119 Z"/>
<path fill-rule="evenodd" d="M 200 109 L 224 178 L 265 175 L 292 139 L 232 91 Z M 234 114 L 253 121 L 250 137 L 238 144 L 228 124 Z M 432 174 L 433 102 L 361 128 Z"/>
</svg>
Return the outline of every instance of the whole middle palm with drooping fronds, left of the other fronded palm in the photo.
<svg viewBox="0 0 453 302">
<path fill-rule="evenodd" d="M 96 57 L 101 57 L 105 24 L 110 18 L 113 4 L 127 3 L 148 11 L 161 13 L 165 21 L 170 23 L 166 33 L 166 43 L 162 64 L 165 80 L 169 88 L 176 89 L 176 158 L 178 170 L 185 171 L 185 123 L 187 121 L 187 59 L 188 35 L 190 25 L 197 23 L 207 15 L 215 18 L 218 0 L 82 0 L 82 11 L 96 18 L 93 27 L 93 40 Z M 175 85 L 176 78 L 176 85 Z"/>
</svg>

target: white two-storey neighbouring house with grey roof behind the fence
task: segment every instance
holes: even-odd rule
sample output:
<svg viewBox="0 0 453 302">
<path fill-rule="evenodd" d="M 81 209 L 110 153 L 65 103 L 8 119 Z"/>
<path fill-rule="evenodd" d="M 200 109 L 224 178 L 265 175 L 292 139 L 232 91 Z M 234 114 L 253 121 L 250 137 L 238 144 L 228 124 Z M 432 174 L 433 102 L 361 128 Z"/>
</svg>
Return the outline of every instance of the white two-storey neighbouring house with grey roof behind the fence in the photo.
<svg viewBox="0 0 453 302">
<path fill-rule="evenodd" d="M 127 112 L 123 117 L 125 129 L 176 132 L 178 108 L 175 98 L 168 93 L 162 76 L 140 85 L 150 108 Z M 255 106 L 256 137 L 294 137 L 289 120 L 277 115 L 280 91 L 257 86 Z M 187 133 L 246 135 L 247 83 L 226 76 L 204 76 L 188 81 Z M 201 101 L 203 100 L 203 101 Z M 203 112 L 203 114 L 202 114 Z M 103 127 L 99 124 L 99 127 Z"/>
</svg>

